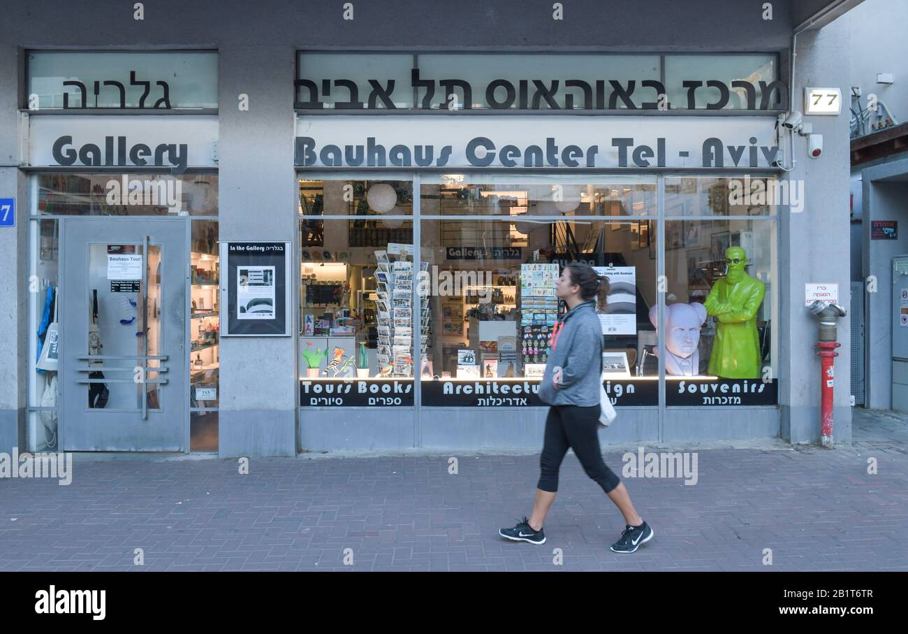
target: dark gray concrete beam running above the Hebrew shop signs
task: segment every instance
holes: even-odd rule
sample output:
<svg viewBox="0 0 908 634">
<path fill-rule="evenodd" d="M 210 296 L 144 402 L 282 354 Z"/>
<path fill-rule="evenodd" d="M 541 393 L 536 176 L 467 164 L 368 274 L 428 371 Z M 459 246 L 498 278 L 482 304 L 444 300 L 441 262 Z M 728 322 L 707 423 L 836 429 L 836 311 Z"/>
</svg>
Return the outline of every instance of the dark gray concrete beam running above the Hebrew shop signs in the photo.
<svg viewBox="0 0 908 634">
<path fill-rule="evenodd" d="M 333 0 L 151 0 L 143 3 L 143 21 L 133 19 L 133 4 L 6 0 L 0 42 L 774 51 L 788 46 L 792 25 L 791 1 L 774 2 L 773 19 L 764 20 L 764 0 L 572 0 L 562 3 L 564 20 L 558 22 L 548 0 L 354 0 L 353 20 L 343 20 L 344 3 Z"/>
</svg>

